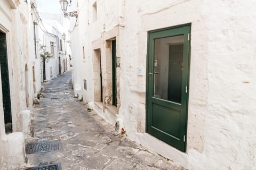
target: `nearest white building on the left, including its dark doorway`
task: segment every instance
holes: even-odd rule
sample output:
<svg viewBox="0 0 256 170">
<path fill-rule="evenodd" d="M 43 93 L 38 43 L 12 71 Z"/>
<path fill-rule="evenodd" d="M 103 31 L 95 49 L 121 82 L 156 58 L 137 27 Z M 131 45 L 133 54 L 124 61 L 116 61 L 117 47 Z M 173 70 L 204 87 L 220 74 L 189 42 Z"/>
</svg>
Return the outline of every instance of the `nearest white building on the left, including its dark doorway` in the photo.
<svg viewBox="0 0 256 170">
<path fill-rule="evenodd" d="M 30 108 L 41 90 L 40 57 L 34 36 L 37 29 L 34 1 L 0 1 L 0 169 L 25 165 Z"/>
</svg>

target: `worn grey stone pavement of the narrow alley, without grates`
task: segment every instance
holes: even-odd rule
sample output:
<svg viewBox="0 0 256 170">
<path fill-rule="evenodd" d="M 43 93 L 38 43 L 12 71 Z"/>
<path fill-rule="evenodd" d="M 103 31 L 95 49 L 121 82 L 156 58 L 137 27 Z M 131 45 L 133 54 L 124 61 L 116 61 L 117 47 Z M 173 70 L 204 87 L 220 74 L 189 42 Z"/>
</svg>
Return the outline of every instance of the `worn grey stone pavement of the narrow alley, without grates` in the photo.
<svg viewBox="0 0 256 170">
<path fill-rule="evenodd" d="M 33 138 L 26 143 L 61 140 L 61 150 L 27 154 L 29 166 L 61 163 L 63 170 L 183 169 L 126 138 L 74 98 L 72 72 L 43 83 L 40 104 L 34 105 Z"/>
</svg>

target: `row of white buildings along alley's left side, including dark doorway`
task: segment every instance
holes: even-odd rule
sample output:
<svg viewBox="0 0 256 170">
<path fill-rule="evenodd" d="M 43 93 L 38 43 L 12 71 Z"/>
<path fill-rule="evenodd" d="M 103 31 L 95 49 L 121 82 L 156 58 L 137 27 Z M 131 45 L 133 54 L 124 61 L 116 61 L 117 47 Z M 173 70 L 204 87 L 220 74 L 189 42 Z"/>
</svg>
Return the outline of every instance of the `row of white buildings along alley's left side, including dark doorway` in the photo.
<svg viewBox="0 0 256 170">
<path fill-rule="evenodd" d="M 48 25 L 43 24 L 41 16 L 35 0 L 0 1 L 1 170 L 26 166 L 25 139 L 33 119 L 30 110 L 41 83 L 69 70 L 63 16 L 44 16 Z M 56 22 L 58 19 L 60 22 Z M 42 46 L 53 56 L 44 63 L 45 70 Z"/>
</svg>

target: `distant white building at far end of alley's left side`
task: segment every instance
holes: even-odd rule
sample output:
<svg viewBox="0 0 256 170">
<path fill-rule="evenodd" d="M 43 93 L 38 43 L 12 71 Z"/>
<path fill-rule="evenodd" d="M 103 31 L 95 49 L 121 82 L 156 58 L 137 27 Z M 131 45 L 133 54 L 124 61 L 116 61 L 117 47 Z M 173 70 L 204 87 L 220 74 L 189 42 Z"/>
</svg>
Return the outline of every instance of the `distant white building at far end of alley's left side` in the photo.
<svg viewBox="0 0 256 170">
<path fill-rule="evenodd" d="M 67 71 L 64 65 L 68 59 L 68 54 L 66 53 L 67 44 L 63 39 L 62 35 L 64 32 L 67 33 L 67 28 L 63 24 L 63 16 L 61 14 L 45 14 L 39 13 L 42 17 L 42 22 L 39 23 L 39 44 L 41 46 L 46 46 L 46 51 L 51 52 L 51 42 L 54 43 L 54 55 L 45 61 L 45 80 L 49 81 L 56 78 L 60 73 Z M 60 40 L 62 44 L 62 50 L 60 48 Z M 41 53 L 43 50 L 41 50 Z M 59 65 L 60 57 L 60 65 Z M 42 72 L 43 64 L 41 61 Z M 60 69 L 60 70 L 59 70 Z M 65 70 L 66 69 L 66 70 Z M 52 72 L 51 72 L 52 70 Z M 43 73 L 42 73 L 43 77 Z"/>
</svg>

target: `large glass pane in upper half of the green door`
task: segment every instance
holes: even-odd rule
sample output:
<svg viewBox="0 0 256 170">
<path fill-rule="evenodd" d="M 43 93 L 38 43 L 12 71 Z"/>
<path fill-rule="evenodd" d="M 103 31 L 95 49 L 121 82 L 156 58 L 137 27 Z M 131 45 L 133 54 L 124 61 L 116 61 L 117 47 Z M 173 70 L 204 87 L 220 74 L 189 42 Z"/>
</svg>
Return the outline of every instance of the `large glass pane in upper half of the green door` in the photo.
<svg viewBox="0 0 256 170">
<path fill-rule="evenodd" d="M 155 39 L 154 97 L 181 104 L 184 36 Z"/>
</svg>

